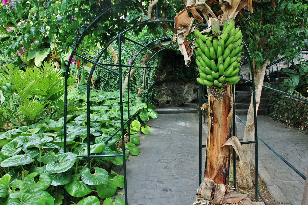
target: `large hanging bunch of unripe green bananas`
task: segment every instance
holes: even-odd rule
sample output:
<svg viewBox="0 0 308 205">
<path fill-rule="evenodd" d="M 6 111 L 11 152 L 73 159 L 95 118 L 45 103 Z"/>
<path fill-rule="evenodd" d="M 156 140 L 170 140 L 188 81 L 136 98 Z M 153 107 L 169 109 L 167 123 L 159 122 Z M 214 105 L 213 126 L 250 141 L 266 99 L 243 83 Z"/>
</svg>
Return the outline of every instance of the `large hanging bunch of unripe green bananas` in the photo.
<svg viewBox="0 0 308 205">
<path fill-rule="evenodd" d="M 207 86 L 223 87 L 239 81 L 242 33 L 234 28 L 234 21 L 225 21 L 220 35 L 202 35 L 195 29 L 195 53 L 200 78 L 198 83 Z"/>
</svg>

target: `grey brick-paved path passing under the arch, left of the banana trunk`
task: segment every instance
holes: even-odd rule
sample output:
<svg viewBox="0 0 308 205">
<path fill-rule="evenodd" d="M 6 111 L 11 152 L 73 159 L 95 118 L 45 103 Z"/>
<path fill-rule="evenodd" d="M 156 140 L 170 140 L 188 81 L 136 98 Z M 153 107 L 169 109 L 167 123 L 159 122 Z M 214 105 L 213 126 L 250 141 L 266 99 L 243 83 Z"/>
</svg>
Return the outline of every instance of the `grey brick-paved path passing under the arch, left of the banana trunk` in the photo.
<svg viewBox="0 0 308 205">
<path fill-rule="evenodd" d="M 130 156 L 126 163 L 129 205 L 195 202 L 199 187 L 198 119 L 196 113 L 159 114 L 148 122 L 151 133 L 141 135 L 140 154 Z"/>
</svg>

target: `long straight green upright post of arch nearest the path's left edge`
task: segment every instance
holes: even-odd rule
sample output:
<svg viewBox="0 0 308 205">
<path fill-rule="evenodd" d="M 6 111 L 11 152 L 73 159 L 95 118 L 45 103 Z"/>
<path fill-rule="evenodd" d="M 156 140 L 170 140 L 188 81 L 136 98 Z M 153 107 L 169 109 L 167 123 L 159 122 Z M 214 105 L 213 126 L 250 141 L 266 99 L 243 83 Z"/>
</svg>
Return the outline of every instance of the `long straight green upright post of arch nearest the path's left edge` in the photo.
<svg viewBox="0 0 308 205">
<path fill-rule="evenodd" d="M 124 119 L 123 119 L 123 93 L 122 93 L 122 52 L 121 52 L 121 36 L 119 40 L 119 89 L 120 89 L 120 114 L 121 114 L 121 128 L 122 128 L 122 153 L 123 153 L 123 172 L 124 172 L 124 192 L 125 192 L 125 205 L 127 202 L 127 181 L 126 181 L 126 157 L 125 157 L 125 140 L 124 140 Z M 129 101 L 129 100 L 128 100 Z"/>
</svg>

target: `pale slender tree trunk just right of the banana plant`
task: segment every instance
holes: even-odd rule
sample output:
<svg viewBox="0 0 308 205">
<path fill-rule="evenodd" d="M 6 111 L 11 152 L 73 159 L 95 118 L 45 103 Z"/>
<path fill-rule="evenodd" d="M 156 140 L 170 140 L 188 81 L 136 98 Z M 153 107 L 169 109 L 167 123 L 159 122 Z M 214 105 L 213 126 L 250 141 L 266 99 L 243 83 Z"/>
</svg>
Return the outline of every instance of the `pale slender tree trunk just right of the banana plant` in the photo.
<svg viewBox="0 0 308 205">
<path fill-rule="evenodd" d="M 253 62 L 255 91 L 256 91 L 256 110 L 257 111 L 258 111 L 259 104 L 260 104 L 263 79 L 265 75 L 266 65 L 268 62 L 269 60 L 266 60 L 260 69 L 256 66 L 255 62 Z M 246 121 L 243 141 L 244 142 L 252 141 L 254 139 L 255 139 L 255 136 L 254 136 L 254 115 L 253 115 L 253 96 L 252 96 L 250 106 L 248 109 L 248 113 L 247 113 L 247 121 Z M 236 174 L 237 186 L 241 188 L 253 187 L 253 183 L 252 183 L 251 176 L 250 176 L 250 160 L 252 156 L 252 147 L 253 147 L 253 144 L 243 145 L 243 153 L 242 153 L 243 164 L 239 166 L 237 174 Z"/>
</svg>

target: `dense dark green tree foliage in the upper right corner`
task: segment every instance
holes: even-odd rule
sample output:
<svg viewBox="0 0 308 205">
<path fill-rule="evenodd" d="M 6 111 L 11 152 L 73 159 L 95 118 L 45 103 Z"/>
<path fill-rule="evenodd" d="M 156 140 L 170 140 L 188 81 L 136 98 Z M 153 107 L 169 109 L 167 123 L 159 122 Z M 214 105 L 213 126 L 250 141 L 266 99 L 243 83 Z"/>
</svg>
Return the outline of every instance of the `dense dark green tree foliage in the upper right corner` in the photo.
<svg viewBox="0 0 308 205">
<path fill-rule="evenodd" d="M 266 0 L 253 3 L 253 14 L 242 11 L 243 39 L 258 67 L 267 59 L 273 61 L 278 55 L 293 60 L 305 49 L 307 10 L 306 1 L 278 0 L 274 7 L 272 1 Z"/>
</svg>

